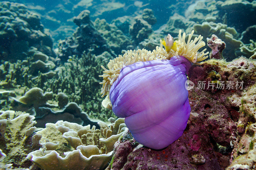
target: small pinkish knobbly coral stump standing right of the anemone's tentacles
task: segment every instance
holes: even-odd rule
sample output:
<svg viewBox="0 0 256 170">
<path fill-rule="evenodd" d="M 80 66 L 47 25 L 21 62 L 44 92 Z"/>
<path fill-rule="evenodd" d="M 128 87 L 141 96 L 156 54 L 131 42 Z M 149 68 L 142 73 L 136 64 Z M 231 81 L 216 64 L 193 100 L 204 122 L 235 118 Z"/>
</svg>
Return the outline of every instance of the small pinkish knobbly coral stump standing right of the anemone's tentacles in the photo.
<svg viewBox="0 0 256 170">
<path fill-rule="evenodd" d="M 222 59 L 222 51 L 226 48 L 226 43 L 221 41 L 216 35 L 212 34 L 211 38 L 207 38 L 207 46 L 212 49 L 210 58 Z"/>
</svg>

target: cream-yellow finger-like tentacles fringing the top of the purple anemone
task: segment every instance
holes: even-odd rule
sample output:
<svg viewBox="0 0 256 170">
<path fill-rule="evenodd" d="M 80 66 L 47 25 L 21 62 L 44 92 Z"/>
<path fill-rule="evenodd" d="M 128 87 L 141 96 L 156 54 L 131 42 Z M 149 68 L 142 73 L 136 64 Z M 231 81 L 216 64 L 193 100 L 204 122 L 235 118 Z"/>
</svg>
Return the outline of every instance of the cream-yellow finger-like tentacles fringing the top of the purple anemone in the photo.
<svg viewBox="0 0 256 170">
<path fill-rule="evenodd" d="M 205 60 L 208 57 L 205 55 L 207 55 L 209 52 L 204 53 L 206 50 L 205 48 L 203 51 L 198 53 L 198 50 L 205 46 L 205 42 L 202 41 L 203 37 L 201 35 L 196 37 L 194 40 L 191 40 L 193 33 L 194 30 L 191 32 L 191 34 L 188 35 L 188 41 L 186 43 L 186 33 L 183 33 L 181 37 L 180 30 L 179 39 L 178 41 L 174 41 L 174 45 L 170 51 L 166 51 L 163 48 L 163 41 L 160 40 L 160 47 L 156 46 L 156 49 L 152 52 L 144 48 L 138 50 L 128 50 L 124 55 L 119 55 L 114 60 L 110 60 L 107 65 L 108 69 L 106 69 L 104 66 L 101 66 L 104 69 L 103 75 L 100 75 L 100 77 L 103 77 L 103 81 L 100 82 L 100 84 L 102 84 L 100 92 L 100 94 L 102 94 L 101 97 L 108 95 L 111 85 L 119 76 L 120 70 L 126 65 L 140 61 L 145 62 L 151 60 L 168 60 L 175 55 L 182 55 L 192 63 L 201 64 L 197 62 Z"/>
</svg>

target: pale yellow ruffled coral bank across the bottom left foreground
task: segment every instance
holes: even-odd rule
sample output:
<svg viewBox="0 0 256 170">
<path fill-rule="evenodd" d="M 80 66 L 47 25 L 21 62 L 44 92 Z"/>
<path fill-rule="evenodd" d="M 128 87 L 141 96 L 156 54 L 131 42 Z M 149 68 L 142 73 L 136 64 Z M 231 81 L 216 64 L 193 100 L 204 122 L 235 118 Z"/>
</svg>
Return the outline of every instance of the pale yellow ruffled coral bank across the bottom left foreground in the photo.
<svg viewBox="0 0 256 170">
<path fill-rule="evenodd" d="M 34 119 L 23 112 L 0 112 L 0 167 L 103 169 L 113 156 L 115 142 L 127 131 L 121 118 L 109 125 L 98 122 L 100 129 L 58 121 L 46 123 L 41 130 L 34 127 Z M 55 161 L 58 165 L 53 165 Z"/>
</svg>

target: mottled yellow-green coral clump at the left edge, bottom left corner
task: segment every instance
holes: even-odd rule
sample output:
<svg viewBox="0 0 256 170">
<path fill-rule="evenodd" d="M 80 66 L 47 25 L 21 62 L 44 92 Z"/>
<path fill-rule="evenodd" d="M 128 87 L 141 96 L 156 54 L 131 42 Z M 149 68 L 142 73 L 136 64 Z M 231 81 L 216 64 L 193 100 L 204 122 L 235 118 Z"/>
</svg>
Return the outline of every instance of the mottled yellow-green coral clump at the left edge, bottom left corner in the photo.
<svg viewBox="0 0 256 170">
<path fill-rule="evenodd" d="M 29 152 L 39 148 L 39 145 L 31 142 L 36 124 L 34 119 L 34 116 L 22 112 L 0 111 L 0 149 L 6 154 L 1 163 L 14 164 L 14 167 L 31 165 L 25 158 Z"/>
</svg>

